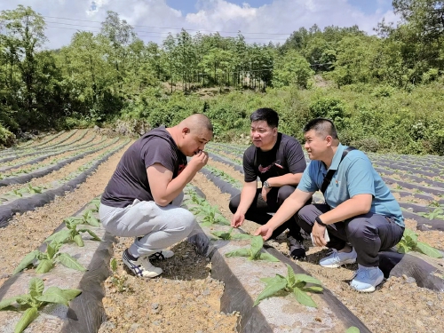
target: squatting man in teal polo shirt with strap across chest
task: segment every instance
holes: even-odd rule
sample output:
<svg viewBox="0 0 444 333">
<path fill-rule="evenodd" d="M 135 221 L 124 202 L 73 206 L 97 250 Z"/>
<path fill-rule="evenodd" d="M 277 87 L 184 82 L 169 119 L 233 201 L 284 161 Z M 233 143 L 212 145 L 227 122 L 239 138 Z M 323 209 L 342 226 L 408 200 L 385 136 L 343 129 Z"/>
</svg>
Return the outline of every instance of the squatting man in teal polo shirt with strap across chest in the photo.
<svg viewBox="0 0 444 333">
<path fill-rule="evenodd" d="M 333 250 L 320 265 L 333 268 L 357 260 L 359 268 L 350 285 L 358 291 L 372 292 L 384 279 L 378 267 L 378 252 L 396 245 L 404 233 L 400 205 L 367 155 L 352 150 L 343 158 L 346 147 L 339 143 L 334 123 L 313 119 L 305 125 L 304 136 L 312 162 L 295 192 L 256 234 L 268 239 L 276 227 L 300 209 L 297 224 L 313 234 L 315 245 Z M 303 207 L 321 189 L 328 170 L 335 171 L 324 192 L 325 203 Z M 326 228 L 329 242 L 324 239 Z"/>
</svg>

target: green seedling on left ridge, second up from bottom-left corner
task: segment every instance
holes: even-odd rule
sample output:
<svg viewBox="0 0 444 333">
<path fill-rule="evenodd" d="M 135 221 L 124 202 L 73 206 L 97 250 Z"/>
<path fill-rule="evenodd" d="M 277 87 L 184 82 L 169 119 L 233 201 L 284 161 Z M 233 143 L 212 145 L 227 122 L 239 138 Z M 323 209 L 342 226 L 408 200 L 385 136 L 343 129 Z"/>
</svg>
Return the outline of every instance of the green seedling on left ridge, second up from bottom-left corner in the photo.
<svg viewBox="0 0 444 333">
<path fill-rule="evenodd" d="M 46 252 L 40 250 L 34 250 L 28 253 L 23 260 L 21 260 L 19 266 L 17 266 L 12 272 L 12 274 L 17 274 L 28 267 L 32 262 L 37 259 L 39 260 L 38 266 L 36 268 L 36 273 L 46 273 L 49 272 L 52 267 L 59 262 L 63 266 L 75 269 L 80 272 L 86 271 L 75 258 L 71 257 L 69 254 L 64 252 L 59 252 L 60 246 L 62 244 L 59 242 L 52 242 L 46 246 Z"/>
</svg>

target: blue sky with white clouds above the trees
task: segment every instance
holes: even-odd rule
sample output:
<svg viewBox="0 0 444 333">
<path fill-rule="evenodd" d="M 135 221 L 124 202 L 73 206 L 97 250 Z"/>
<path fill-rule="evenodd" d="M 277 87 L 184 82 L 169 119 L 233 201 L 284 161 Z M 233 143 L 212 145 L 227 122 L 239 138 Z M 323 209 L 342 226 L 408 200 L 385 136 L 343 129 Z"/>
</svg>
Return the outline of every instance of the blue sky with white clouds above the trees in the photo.
<svg viewBox="0 0 444 333">
<path fill-rule="evenodd" d="M 293 31 L 313 24 L 321 29 L 358 25 L 374 34 L 383 18 L 397 20 L 392 0 L 9 0 L 0 2 L 0 11 L 18 4 L 44 16 L 48 49 L 69 44 L 75 31 L 98 33 L 107 11 L 127 20 L 144 42 L 158 44 L 180 28 L 221 36 L 241 31 L 250 44 L 283 44 Z"/>
</svg>

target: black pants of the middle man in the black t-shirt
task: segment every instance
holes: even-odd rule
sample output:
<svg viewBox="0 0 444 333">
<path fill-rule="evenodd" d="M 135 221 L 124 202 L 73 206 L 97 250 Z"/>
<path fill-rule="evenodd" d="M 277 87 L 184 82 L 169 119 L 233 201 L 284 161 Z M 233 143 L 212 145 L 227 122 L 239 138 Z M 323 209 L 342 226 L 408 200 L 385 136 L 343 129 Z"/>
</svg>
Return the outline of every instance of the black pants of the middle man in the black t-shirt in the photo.
<svg viewBox="0 0 444 333">
<path fill-rule="evenodd" d="M 281 187 L 272 187 L 270 192 L 266 194 L 266 202 L 262 199 L 262 188 L 258 188 L 256 191 L 256 195 L 254 197 L 253 202 L 250 205 L 249 210 L 245 213 L 245 218 L 250 221 L 256 222 L 259 225 L 265 225 L 272 216 L 267 213 L 275 213 L 284 202 L 285 199 L 289 197 L 295 191 L 296 187 L 284 185 Z M 229 208 L 231 212 L 234 214 L 239 207 L 239 203 L 241 202 L 241 194 L 238 194 L 233 197 L 230 201 Z M 307 203 L 311 203 L 312 199 Z M 289 229 L 289 235 L 293 236 L 297 241 L 303 241 L 303 237 L 301 235 L 301 229 L 297 225 L 296 222 L 297 213 L 289 218 L 288 221 L 279 226 L 270 238 L 276 238 L 280 234 L 282 234 L 287 228 Z"/>
</svg>

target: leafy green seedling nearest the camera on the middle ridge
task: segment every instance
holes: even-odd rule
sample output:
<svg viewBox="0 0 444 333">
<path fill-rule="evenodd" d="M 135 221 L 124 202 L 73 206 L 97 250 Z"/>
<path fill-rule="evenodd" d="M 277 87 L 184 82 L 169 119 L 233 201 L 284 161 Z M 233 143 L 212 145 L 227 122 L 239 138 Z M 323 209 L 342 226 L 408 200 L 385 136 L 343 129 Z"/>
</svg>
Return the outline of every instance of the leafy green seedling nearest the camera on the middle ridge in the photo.
<svg viewBox="0 0 444 333">
<path fill-rule="evenodd" d="M 254 305 L 256 306 L 260 303 L 262 299 L 267 297 L 272 297 L 274 294 L 280 292 L 281 290 L 291 292 L 295 297 L 297 302 L 302 305 L 318 307 L 314 303 L 313 298 L 307 294 L 307 291 L 320 292 L 322 291 L 321 281 L 313 278 L 313 276 L 306 274 L 295 274 L 293 268 L 287 264 L 287 276 L 282 276 L 276 274 L 272 278 L 263 278 L 260 281 L 266 283 L 266 289 L 264 289 L 256 298 Z M 306 286 L 307 283 L 317 284 L 319 286 Z"/>
</svg>

